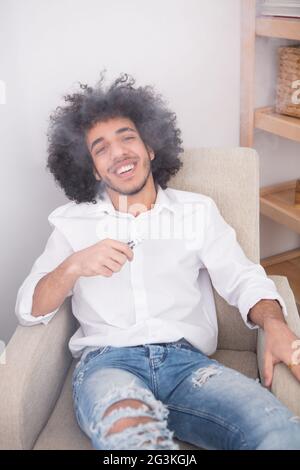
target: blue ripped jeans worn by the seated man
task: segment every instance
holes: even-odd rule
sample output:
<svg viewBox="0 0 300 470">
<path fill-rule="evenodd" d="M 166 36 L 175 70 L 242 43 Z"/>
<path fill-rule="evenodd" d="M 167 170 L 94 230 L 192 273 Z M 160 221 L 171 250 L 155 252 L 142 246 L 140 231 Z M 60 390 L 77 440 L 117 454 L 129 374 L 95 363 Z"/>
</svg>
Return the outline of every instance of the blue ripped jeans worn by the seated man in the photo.
<svg viewBox="0 0 300 470">
<path fill-rule="evenodd" d="M 106 413 L 125 399 L 141 404 Z M 299 417 L 184 338 L 89 352 L 74 370 L 73 400 L 95 449 L 179 449 L 174 438 L 205 449 L 300 449 Z M 129 417 L 148 419 L 109 433 Z"/>
</svg>

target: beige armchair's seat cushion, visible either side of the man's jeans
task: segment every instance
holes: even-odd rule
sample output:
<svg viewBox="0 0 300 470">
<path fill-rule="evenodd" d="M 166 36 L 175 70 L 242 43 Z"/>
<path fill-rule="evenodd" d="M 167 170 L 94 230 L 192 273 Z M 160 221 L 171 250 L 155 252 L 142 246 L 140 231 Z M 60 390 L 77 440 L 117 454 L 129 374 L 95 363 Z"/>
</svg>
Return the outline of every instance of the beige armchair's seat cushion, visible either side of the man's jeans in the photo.
<svg viewBox="0 0 300 470">
<path fill-rule="evenodd" d="M 253 352 L 218 350 L 212 357 L 248 377 L 256 378 L 258 375 L 256 354 Z M 55 408 L 35 443 L 35 450 L 92 450 L 89 439 L 79 428 L 74 415 L 71 390 L 74 367 L 75 361 L 69 369 Z M 189 443 L 175 441 L 180 449 L 199 450 Z"/>
</svg>

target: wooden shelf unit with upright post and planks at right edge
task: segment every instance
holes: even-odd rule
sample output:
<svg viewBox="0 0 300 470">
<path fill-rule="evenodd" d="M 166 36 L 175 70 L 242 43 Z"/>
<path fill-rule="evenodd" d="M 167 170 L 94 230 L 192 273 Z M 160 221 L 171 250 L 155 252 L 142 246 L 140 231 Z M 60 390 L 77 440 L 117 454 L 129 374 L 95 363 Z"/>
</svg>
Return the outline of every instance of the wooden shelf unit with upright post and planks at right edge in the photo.
<svg viewBox="0 0 300 470">
<path fill-rule="evenodd" d="M 255 47 L 256 39 L 262 36 L 300 41 L 300 18 L 256 16 L 256 0 L 241 2 L 241 147 L 253 147 L 255 128 L 300 142 L 300 119 L 278 114 L 274 106 L 254 109 Z M 294 203 L 295 186 L 296 180 L 293 180 L 261 188 L 260 211 L 300 233 L 300 207 Z M 300 249 L 262 259 L 261 264 L 267 274 L 288 278 L 300 313 Z"/>
</svg>

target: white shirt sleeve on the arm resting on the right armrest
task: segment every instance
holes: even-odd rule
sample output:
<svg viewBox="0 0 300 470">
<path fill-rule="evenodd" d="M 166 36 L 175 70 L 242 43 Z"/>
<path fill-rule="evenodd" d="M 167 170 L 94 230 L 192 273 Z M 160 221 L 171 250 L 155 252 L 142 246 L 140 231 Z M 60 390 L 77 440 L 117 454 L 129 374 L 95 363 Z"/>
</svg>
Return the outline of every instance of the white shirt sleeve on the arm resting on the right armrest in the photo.
<svg viewBox="0 0 300 470">
<path fill-rule="evenodd" d="M 247 315 L 262 299 L 277 300 L 287 317 L 286 305 L 274 282 L 260 264 L 246 257 L 235 230 L 224 220 L 213 199 L 209 200 L 200 256 L 214 288 L 230 305 L 238 308 L 250 329 L 258 328 L 258 325 L 248 320 Z"/>
</svg>

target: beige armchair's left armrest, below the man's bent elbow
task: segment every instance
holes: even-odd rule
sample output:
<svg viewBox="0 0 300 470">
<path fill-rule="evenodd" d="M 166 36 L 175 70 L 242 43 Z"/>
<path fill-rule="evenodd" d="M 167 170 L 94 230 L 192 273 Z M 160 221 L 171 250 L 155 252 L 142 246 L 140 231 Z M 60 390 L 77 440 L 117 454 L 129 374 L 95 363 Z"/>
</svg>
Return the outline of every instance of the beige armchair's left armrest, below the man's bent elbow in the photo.
<svg viewBox="0 0 300 470">
<path fill-rule="evenodd" d="M 76 326 L 70 297 L 47 325 L 17 326 L 0 364 L 0 449 L 32 449 L 72 362 Z"/>
</svg>

